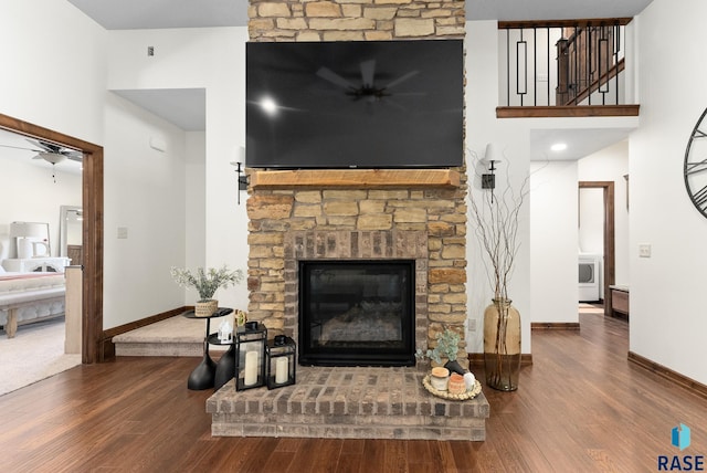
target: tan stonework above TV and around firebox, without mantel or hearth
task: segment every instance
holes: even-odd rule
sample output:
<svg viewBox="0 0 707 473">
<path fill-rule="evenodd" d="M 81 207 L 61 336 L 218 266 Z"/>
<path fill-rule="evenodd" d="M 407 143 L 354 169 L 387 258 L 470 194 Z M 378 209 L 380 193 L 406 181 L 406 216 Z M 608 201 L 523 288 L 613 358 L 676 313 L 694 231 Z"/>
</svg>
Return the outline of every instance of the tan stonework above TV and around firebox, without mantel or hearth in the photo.
<svg viewBox="0 0 707 473">
<path fill-rule="evenodd" d="M 249 17 L 251 41 L 458 39 L 465 34 L 464 0 L 251 0 Z M 466 361 L 466 174 L 464 168 L 457 170 L 458 188 L 398 189 L 394 182 L 378 189 L 250 188 L 249 317 L 296 335 L 298 286 L 293 272 L 298 257 L 363 259 L 370 250 L 369 257 L 414 259 L 415 346 L 434 346 L 435 335 L 450 327 L 462 335 L 460 360 Z M 424 251 L 419 244 L 414 250 L 403 248 L 410 242 L 407 238 L 414 235 L 419 242 L 421 234 Z M 356 254 L 351 246 L 341 246 L 352 239 L 359 245 Z M 302 243 L 307 241 L 312 250 Z M 387 241 L 392 245 L 386 246 Z"/>
</svg>

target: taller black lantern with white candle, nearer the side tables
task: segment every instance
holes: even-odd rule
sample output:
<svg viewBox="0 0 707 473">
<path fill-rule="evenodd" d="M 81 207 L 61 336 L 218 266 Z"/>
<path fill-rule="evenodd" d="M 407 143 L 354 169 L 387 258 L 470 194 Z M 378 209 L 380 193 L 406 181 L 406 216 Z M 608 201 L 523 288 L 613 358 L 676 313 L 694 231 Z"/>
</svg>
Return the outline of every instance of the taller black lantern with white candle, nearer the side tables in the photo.
<svg viewBox="0 0 707 473">
<path fill-rule="evenodd" d="M 246 322 L 235 332 L 235 390 L 265 386 L 265 345 L 267 328 Z"/>
</svg>

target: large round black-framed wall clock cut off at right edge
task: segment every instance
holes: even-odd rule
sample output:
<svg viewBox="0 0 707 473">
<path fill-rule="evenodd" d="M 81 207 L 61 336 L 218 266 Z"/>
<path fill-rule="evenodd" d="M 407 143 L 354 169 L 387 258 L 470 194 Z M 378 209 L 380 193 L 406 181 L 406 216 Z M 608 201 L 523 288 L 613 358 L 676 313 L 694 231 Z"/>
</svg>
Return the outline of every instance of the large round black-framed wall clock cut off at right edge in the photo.
<svg viewBox="0 0 707 473">
<path fill-rule="evenodd" d="M 707 218 L 707 108 L 699 116 L 685 149 L 685 188 L 695 208 Z"/>
</svg>

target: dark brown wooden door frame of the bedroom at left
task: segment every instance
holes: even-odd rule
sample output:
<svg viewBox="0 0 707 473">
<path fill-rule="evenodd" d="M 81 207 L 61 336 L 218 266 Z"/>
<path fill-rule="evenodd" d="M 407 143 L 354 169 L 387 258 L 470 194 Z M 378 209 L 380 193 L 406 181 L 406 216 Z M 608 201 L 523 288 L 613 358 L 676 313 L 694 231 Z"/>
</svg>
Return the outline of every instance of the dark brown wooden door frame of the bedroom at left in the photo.
<svg viewBox="0 0 707 473">
<path fill-rule="evenodd" d="M 103 147 L 3 114 L 0 114 L 0 128 L 30 138 L 52 141 L 84 154 L 81 360 L 83 364 L 103 361 Z"/>
</svg>

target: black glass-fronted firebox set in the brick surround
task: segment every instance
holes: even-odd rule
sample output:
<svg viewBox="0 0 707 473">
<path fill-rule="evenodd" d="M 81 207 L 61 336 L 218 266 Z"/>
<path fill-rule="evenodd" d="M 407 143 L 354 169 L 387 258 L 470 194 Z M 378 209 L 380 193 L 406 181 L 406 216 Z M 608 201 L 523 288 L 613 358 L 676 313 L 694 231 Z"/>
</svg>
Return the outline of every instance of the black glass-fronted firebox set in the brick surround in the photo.
<svg viewBox="0 0 707 473">
<path fill-rule="evenodd" d="M 299 262 L 299 362 L 412 366 L 413 260 Z"/>
</svg>

